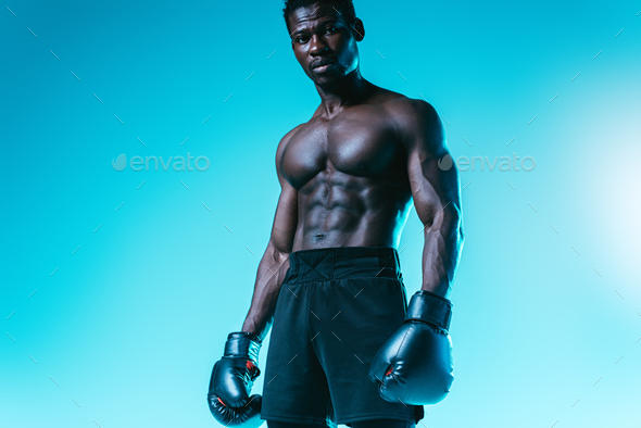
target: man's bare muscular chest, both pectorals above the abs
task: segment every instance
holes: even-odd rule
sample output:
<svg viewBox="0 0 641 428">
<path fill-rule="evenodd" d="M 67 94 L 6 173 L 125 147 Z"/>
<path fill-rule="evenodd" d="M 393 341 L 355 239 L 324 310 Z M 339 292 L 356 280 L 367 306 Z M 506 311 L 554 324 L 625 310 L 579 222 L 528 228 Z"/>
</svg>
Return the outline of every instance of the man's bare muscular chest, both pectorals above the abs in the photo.
<svg viewBox="0 0 641 428">
<path fill-rule="evenodd" d="M 342 113 L 331 121 L 311 121 L 292 136 L 282 155 L 282 174 L 300 190 L 328 168 L 359 177 L 393 176 L 404 165 L 401 158 L 388 117 Z"/>
</svg>

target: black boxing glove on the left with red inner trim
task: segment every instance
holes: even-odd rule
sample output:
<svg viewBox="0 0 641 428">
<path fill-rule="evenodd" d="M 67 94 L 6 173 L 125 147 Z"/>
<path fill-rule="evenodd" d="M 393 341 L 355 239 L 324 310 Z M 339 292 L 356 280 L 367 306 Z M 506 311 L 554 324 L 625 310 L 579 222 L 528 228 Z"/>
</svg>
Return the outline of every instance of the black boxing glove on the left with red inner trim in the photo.
<svg viewBox="0 0 641 428">
<path fill-rule="evenodd" d="M 250 332 L 227 336 L 225 353 L 214 365 L 208 402 L 217 421 L 225 426 L 259 427 L 262 396 L 249 396 L 254 380 L 260 376 L 259 352 L 261 339 Z"/>
</svg>

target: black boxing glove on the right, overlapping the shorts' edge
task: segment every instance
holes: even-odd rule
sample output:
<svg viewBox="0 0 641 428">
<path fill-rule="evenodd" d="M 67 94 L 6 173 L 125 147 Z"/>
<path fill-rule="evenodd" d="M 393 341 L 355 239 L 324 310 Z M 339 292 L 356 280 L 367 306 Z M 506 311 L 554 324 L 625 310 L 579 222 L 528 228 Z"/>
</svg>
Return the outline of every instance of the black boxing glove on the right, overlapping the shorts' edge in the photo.
<svg viewBox="0 0 641 428">
<path fill-rule="evenodd" d="M 445 398 L 454 380 L 451 317 L 448 299 L 425 290 L 412 297 L 403 325 L 369 366 L 369 379 L 379 385 L 382 399 L 424 405 Z"/>
</svg>

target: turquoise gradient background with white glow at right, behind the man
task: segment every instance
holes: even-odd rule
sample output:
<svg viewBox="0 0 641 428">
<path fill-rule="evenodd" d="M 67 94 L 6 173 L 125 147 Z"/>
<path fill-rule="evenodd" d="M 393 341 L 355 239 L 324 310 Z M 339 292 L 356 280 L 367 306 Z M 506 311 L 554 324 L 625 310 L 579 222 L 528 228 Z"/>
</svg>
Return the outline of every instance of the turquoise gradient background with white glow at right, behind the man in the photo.
<svg viewBox="0 0 641 428">
<path fill-rule="evenodd" d="M 319 101 L 281 2 L 7 7 L 0 426 L 218 426 L 209 376 L 267 244 L 276 146 Z M 639 427 L 641 2 L 355 7 L 363 75 L 432 103 L 454 158 L 537 162 L 461 175 L 456 380 L 425 425 Z M 187 152 L 210 168 L 111 165 Z M 413 210 L 410 294 L 420 228 Z"/>
</svg>

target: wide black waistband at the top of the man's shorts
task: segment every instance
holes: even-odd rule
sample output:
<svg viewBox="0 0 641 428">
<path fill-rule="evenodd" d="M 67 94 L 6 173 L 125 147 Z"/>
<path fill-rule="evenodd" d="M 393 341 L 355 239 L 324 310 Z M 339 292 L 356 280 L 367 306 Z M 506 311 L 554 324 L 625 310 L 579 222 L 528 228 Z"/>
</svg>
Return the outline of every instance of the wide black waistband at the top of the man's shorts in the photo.
<svg viewBox="0 0 641 428">
<path fill-rule="evenodd" d="M 294 251 L 284 282 L 343 278 L 402 279 L 399 253 L 391 247 L 337 247 Z"/>
</svg>

